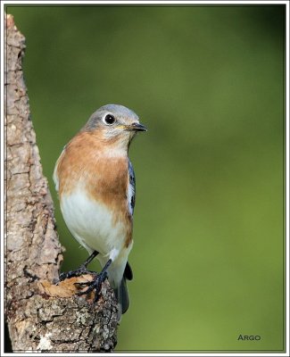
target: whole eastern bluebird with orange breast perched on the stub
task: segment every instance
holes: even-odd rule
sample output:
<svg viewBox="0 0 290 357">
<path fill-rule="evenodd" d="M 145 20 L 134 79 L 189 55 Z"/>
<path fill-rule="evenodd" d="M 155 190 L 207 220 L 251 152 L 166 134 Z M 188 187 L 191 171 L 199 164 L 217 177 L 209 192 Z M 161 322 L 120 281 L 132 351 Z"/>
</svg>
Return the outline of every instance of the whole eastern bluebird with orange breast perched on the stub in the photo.
<svg viewBox="0 0 290 357">
<path fill-rule="evenodd" d="M 100 274 L 87 282 L 95 301 L 102 282 L 109 279 L 121 312 L 128 310 L 126 279 L 132 279 L 128 254 L 133 245 L 135 174 L 128 147 L 137 131 L 146 131 L 137 114 L 122 105 L 108 104 L 94 112 L 68 145 L 54 168 L 62 216 L 73 237 L 90 254 L 78 270 L 60 280 L 82 275 L 95 256 Z"/>
</svg>

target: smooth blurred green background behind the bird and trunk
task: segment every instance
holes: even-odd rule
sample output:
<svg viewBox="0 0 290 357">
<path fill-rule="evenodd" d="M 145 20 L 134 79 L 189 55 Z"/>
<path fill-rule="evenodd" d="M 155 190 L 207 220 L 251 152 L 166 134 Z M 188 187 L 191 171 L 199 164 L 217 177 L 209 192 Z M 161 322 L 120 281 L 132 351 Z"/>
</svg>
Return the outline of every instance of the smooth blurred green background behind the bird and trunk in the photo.
<svg viewBox="0 0 290 357">
<path fill-rule="evenodd" d="M 63 270 L 87 257 L 54 191 L 63 145 L 109 103 L 149 129 L 130 148 L 135 278 L 116 351 L 283 350 L 284 6 L 6 11 L 26 37 Z"/>
</svg>

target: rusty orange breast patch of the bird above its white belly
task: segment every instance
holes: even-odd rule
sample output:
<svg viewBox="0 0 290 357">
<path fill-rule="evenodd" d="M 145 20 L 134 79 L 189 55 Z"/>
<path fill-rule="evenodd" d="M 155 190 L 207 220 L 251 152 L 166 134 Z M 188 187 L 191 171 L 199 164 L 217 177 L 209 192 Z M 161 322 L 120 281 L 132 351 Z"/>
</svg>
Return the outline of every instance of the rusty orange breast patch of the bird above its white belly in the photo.
<svg viewBox="0 0 290 357">
<path fill-rule="evenodd" d="M 70 195 L 79 184 L 87 195 L 104 203 L 114 222 L 128 228 L 125 245 L 132 239 L 132 219 L 128 213 L 128 156 L 114 156 L 114 142 L 105 142 L 101 134 L 81 132 L 64 149 L 57 166 L 59 195 Z M 111 154 L 110 154 L 111 153 Z"/>
</svg>

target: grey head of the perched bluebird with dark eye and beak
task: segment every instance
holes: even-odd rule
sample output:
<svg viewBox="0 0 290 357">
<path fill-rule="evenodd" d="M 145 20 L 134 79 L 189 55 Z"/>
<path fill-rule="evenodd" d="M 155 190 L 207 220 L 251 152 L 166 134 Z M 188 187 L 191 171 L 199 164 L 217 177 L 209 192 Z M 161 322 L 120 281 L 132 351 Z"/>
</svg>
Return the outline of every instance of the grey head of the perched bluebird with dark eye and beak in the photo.
<svg viewBox="0 0 290 357">
<path fill-rule="evenodd" d="M 108 143 L 128 147 L 137 131 L 147 129 L 139 122 L 135 112 L 123 105 L 107 104 L 91 115 L 84 130 L 94 132 Z"/>
</svg>

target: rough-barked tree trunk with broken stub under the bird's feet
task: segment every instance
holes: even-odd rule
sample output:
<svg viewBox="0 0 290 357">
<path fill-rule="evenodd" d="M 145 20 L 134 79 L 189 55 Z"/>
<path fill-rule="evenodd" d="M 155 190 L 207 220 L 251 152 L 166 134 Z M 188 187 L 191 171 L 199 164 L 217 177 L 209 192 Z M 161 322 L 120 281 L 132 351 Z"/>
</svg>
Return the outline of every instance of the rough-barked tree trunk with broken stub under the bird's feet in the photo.
<svg viewBox="0 0 290 357">
<path fill-rule="evenodd" d="M 62 246 L 43 176 L 23 80 L 25 38 L 5 21 L 5 314 L 13 352 L 99 352 L 116 345 L 118 310 L 105 281 L 94 296 L 75 295 L 70 278 L 58 286 Z"/>
</svg>

